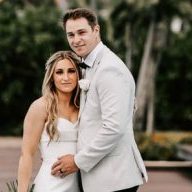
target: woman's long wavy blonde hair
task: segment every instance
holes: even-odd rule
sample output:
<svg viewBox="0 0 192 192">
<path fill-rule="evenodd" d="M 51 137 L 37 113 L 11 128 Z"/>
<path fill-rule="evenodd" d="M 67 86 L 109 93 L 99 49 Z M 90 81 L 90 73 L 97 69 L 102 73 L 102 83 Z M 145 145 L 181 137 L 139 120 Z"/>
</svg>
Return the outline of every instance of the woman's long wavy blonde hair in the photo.
<svg viewBox="0 0 192 192">
<path fill-rule="evenodd" d="M 53 81 L 53 73 L 55 66 L 58 61 L 68 59 L 75 67 L 77 79 L 81 79 L 81 71 L 79 68 L 80 58 L 73 53 L 72 51 L 58 51 L 54 53 L 45 64 L 45 76 L 42 85 L 42 95 L 45 97 L 47 104 L 47 121 L 46 121 L 46 131 L 49 135 L 50 141 L 55 137 L 59 137 L 57 130 L 57 117 L 58 117 L 58 95 L 56 87 Z M 77 82 L 76 88 L 73 90 L 70 103 L 76 108 L 79 108 L 80 105 L 80 88 Z"/>
</svg>

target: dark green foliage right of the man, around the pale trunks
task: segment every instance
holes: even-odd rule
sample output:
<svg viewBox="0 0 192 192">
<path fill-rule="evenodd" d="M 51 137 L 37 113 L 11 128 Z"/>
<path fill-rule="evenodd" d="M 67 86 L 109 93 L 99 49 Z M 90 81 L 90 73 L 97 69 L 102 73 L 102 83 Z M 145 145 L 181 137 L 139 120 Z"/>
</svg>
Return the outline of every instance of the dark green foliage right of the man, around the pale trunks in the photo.
<svg viewBox="0 0 192 192">
<path fill-rule="evenodd" d="M 158 130 L 191 130 L 192 108 L 192 3 L 190 0 L 122 0 L 111 13 L 115 52 L 125 60 L 126 26 L 131 41 L 132 72 L 137 81 L 151 20 L 156 28 L 166 29 L 165 47 L 158 47 L 158 35 L 153 41 L 153 56 L 162 52 L 156 76 L 155 128 Z M 170 30 L 172 19 L 178 16 L 183 26 L 178 34 Z M 161 32 L 161 31 L 160 31 Z"/>
</svg>

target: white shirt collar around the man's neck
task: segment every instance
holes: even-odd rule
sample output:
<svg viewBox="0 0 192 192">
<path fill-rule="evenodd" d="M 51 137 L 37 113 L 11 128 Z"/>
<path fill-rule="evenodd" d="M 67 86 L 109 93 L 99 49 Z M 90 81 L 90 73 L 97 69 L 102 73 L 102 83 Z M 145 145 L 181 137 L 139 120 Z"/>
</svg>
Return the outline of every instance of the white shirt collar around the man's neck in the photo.
<svg viewBox="0 0 192 192">
<path fill-rule="evenodd" d="M 94 61 L 97 58 L 97 54 L 103 48 L 103 43 L 100 41 L 97 46 L 89 53 L 89 55 L 83 60 L 83 62 L 89 67 L 93 66 Z"/>
</svg>

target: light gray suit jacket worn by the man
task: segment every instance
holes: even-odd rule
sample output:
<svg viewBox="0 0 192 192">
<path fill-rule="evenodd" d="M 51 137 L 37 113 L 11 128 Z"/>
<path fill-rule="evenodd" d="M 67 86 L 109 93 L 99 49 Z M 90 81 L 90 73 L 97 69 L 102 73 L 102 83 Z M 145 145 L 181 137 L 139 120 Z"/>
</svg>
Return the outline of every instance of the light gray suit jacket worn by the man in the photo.
<svg viewBox="0 0 192 192">
<path fill-rule="evenodd" d="M 141 185 L 148 178 L 133 134 L 135 83 L 130 71 L 104 46 L 86 78 L 91 83 L 81 99 L 75 155 L 84 192 Z"/>
</svg>

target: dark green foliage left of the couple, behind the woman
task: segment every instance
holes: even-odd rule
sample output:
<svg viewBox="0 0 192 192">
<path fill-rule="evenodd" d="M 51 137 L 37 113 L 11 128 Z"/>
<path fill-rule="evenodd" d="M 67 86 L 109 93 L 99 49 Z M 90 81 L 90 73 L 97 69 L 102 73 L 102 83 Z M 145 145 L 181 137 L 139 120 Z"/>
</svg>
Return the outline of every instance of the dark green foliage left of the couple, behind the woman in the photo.
<svg viewBox="0 0 192 192">
<path fill-rule="evenodd" d="M 22 2 L 0 4 L 0 134 L 21 134 L 29 104 L 41 95 L 46 60 L 68 49 L 59 10 Z"/>
</svg>

